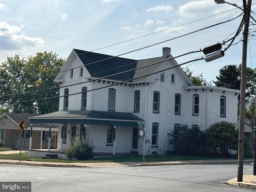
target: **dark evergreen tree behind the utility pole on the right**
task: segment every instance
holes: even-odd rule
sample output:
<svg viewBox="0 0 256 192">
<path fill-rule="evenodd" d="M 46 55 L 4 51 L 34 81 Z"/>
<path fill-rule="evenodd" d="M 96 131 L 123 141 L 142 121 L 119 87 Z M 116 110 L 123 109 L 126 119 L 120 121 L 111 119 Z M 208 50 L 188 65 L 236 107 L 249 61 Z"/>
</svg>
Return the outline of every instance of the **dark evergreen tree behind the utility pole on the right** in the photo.
<svg viewBox="0 0 256 192">
<path fill-rule="evenodd" d="M 214 84 L 218 87 L 240 90 L 241 65 L 227 65 L 220 69 Z M 246 68 L 246 102 L 255 98 L 256 69 Z"/>
</svg>

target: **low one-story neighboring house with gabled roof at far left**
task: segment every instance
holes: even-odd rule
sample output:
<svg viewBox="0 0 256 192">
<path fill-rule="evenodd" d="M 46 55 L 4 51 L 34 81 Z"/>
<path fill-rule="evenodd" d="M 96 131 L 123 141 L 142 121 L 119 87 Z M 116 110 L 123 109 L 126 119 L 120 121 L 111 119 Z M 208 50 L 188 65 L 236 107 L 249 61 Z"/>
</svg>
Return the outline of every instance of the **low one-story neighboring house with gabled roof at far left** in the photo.
<svg viewBox="0 0 256 192">
<path fill-rule="evenodd" d="M 4 113 L 0 115 L 0 143 L 4 147 L 16 147 L 28 149 L 30 145 L 30 120 L 35 114 Z M 24 122 L 24 129 L 20 129 L 19 122 Z M 31 143 L 32 148 L 48 149 L 49 128 L 47 124 L 34 124 Z M 22 127 L 23 128 L 23 127 Z M 56 135 L 55 139 L 54 136 Z M 57 148 L 58 129 L 52 129 L 52 141 L 50 148 Z M 47 140 L 46 140 L 47 139 Z"/>
</svg>

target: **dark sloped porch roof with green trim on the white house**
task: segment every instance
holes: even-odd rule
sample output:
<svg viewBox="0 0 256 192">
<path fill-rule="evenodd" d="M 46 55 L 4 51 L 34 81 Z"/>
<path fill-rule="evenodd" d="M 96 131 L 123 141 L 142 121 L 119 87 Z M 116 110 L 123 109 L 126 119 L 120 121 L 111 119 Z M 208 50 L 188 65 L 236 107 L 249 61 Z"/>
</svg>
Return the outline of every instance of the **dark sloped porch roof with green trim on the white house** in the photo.
<svg viewBox="0 0 256 192">
<path fill-rule="evenodd" d="M 30 123 L 48 124 L 92 124 L 138 127 L 142 118 L 130 112 L 65 110 L 30 117 Z"/>
</svg>

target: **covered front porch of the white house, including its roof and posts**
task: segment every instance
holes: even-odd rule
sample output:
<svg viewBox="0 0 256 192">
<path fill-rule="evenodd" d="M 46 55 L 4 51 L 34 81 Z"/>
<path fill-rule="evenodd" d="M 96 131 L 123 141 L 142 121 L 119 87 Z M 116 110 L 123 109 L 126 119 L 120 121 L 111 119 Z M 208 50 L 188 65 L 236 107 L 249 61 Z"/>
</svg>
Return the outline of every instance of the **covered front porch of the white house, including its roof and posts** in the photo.
<svg viewBox="0 0 256 192">
<path fill-rule="evenodd" d="M 58 125 L 58 151 L 52 150 L 49 145 L 47 152 L 59 153 L 61 158 L 65 158 L 61 154 L 64 154 L 75 135 L 92 140 L 94 153 L 142 154 L 142 148 L 138 146 L 139 121 L 143 119 L 128 112 L 86 110 L 58 111 L 30 118 L 32 130 L 36 123 L 48 124 L 50 132 L 52 124 Z M 31 136 L 30 141 L 32 140 Z M 45 150 L 32 149 L 30 146 L 29 151 L 29 156 L 41 156 L 41 152 Z"/>
</svg>

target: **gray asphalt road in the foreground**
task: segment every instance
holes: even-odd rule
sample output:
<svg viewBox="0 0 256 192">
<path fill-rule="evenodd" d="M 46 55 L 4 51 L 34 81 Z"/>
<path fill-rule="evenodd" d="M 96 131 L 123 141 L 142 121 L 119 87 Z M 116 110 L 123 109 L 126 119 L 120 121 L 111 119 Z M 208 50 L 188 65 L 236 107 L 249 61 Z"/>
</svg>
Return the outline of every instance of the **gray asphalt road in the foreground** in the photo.
<svg viewBox="0 0 256 192">
<path fill-rule="evenodd" d="M 244 175 L 252 174 L 244 163 Z M 0 165 L 1 182 L 32 182 L 32 192 L 241 192 L 237 164 L 60 168 Z"/>
</svg>

